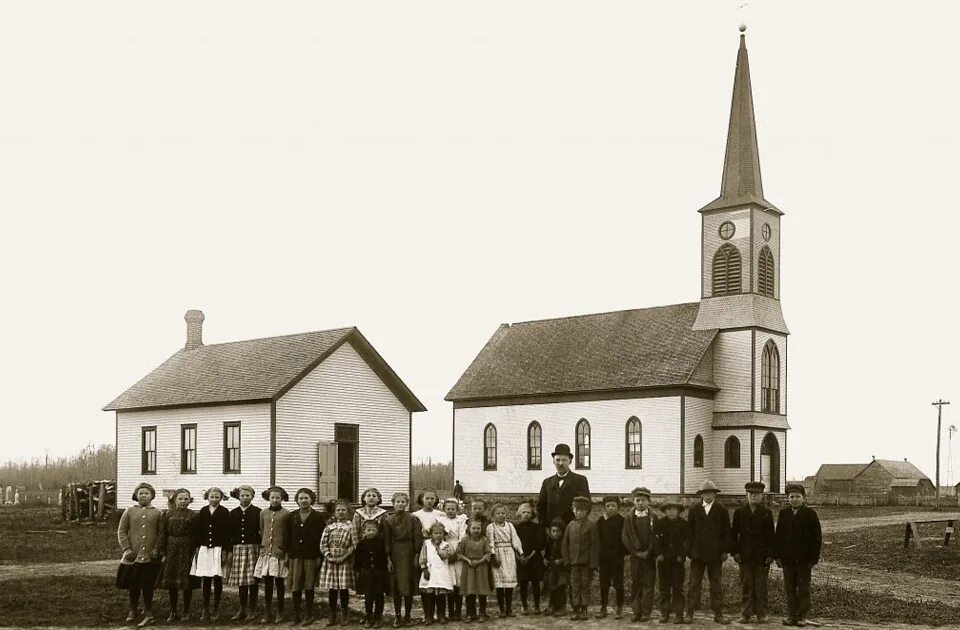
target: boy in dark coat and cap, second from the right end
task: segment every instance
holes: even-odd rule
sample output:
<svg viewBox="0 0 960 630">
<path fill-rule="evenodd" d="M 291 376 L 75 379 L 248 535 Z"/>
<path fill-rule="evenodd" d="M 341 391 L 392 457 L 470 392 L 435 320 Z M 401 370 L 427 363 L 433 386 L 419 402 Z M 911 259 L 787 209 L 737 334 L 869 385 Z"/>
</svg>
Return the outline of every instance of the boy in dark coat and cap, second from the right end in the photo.
<svg viewBox="0 0 960 630">
<path fill-rule="evenodd" d="M 733 512 L 730 552 L 740 565 L 740 623 L 766 623 L 769 609 L 767 578 L 773 559 L 773 514 L 763 505 L 765 486 L 759 481 L 744 485 L 747 503 Z"/>
</svg>

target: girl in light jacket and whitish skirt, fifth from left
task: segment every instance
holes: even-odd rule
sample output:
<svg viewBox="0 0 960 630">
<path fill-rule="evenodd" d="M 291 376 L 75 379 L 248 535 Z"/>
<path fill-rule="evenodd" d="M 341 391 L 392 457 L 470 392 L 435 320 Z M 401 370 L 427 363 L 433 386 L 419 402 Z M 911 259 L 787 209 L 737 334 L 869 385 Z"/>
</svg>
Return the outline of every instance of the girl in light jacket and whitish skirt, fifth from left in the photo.
<svg viewBox="0 0 960 630">
<path fill-rule="evenodd" d="M 284 579 L 287 577 L 287 521 L 290 511 L 283 507 L 290 495 L 280 486 L 273 486 L 261 495 L 270 502 L 260 512 L 260 557 L 253 570 L 263 580 L 263 618 L 260 623 L 273 623 L 273 587 L 277 587 L 277 621 L 283 620 Z"/>
</svg>

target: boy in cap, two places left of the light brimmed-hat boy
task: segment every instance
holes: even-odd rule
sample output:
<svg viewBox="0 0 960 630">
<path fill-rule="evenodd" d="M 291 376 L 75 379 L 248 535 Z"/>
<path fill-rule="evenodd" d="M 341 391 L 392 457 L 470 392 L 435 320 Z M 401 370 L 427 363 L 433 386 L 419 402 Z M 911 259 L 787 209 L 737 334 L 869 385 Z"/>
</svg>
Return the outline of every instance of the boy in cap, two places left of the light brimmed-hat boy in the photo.
<svg viewBox="0 0 960 630">
<path fill-rule="evenodd" d="M 650 621 L 653 582 L 657 570 L 653 528 L 657 517 L 650 509 L 650 491 L 634 488 L 633 511 L 623 522 L 623 546 L 630 554 L 630 604 L 634 622 Z"/>
</svg>

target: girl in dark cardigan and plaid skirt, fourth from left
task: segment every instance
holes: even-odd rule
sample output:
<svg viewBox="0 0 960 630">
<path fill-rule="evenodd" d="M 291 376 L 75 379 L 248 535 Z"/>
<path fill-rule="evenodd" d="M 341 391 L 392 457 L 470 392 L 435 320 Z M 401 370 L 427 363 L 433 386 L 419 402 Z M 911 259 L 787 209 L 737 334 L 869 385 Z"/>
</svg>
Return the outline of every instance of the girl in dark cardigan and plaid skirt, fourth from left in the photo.
<svg viewBox="0 0 960 630">
<path fill-rule="evenodd" d="M 260 557 L 260 508 L 253 505 L 253 488 L 240 486 L 230 491 L 230 496 L 240 501 L 230 510 L 230 538 L 233 553 L 227 585 L 240 590 L 240 608 L 230 621 L 253 621 L 257 607 L 257 578 L 253 570 Z M 249 605 L 249 613 L 247 607 Z"/>
</svg>

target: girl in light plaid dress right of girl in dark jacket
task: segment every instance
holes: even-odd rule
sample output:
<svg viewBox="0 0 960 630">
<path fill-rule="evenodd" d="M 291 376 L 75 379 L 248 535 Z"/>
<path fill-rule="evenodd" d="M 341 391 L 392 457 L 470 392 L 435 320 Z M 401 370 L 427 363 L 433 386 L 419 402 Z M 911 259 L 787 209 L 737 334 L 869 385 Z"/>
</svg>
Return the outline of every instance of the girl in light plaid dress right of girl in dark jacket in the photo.
<svg viewBox="0 0 960 630">
<path fill-rule="evenodd" d="M 353 588 L 353 562 L 351 556 L 356 547 L 353 537 L 353 523 L 349 520 L 350 504 L 339 499 L 333 509 L 332 523 L 328 523 L 320 538 L 320 553 L 323 554 L 323 566 L 320 567 L 321 589 L 329 593 L 330 620 L 328 626 L 337 624 L 337 596 L 340 597 L 340 623 L 346 625 L 350 609 L 350 589 Z"/>
</svg>

